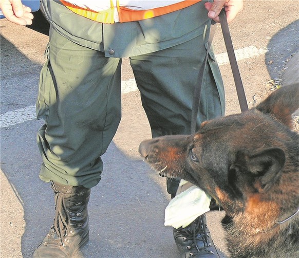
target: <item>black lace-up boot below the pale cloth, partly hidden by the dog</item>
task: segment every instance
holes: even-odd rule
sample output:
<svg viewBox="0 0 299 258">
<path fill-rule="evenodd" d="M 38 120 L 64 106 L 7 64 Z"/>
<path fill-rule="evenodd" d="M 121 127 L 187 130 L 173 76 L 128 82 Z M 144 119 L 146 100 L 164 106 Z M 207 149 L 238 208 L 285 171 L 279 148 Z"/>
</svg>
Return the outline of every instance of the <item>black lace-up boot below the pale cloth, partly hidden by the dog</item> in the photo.
<svg viewBox="0 0 299 258">
<path fill-rule="evenodd" d="M 183 258 L 220 257 L 211 238 L 204 214 L 185 228 L 174 228 L 174 238 Z"/>
</svg>

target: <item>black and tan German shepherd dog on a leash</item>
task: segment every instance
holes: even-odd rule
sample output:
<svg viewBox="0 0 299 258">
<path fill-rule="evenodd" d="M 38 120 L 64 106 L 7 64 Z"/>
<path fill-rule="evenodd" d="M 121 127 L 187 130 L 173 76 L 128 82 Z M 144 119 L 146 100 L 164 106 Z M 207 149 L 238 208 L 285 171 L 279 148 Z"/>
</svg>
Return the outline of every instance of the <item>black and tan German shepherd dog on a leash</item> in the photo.
<svg viewBox="0 0 299 258">
<path fill-rule="evenodd" d="M 139 152 L 161 175 L 218 202 L 232 257 L 299 257 L 299 136 L 291 131 L 298 107 L 299 84 L 285 86 L 193 135 L 143 141 Z"/>
</svg>

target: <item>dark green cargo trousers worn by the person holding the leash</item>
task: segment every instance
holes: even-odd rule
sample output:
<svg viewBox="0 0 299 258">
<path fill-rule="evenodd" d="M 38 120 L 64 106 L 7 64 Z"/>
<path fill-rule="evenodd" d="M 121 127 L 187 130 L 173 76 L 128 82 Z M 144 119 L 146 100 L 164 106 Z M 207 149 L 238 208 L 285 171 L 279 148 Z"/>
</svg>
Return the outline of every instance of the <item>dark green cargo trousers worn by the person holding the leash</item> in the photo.
<svg viewBox="0 0 299 258">
<path fill-rule="evenodd" d="M 131 57 L 153 137 L 189 134 L 192 99 L 204 59 L 202 35 L 183 44 Z M 40 78 L 40 177 L 91 188 L 101 179 L 105 153 L 121 119 L 121 59 L 75 44 L 53 31 Z M 211 52 L 198 124 L 224 114 L 221 75 Z M 168 190 L 176 191 L 177 181 Z"/>
</svg>

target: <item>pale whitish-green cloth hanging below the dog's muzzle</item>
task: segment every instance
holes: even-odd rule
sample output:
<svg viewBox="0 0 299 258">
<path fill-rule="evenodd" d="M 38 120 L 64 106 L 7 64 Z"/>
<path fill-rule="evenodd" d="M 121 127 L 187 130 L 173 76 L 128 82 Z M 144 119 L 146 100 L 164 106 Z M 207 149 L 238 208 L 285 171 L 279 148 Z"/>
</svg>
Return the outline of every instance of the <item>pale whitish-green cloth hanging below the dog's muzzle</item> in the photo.
<svg viewBox="0 0 299 258">
<path fill-rule="evenodd" d="M 164 225 L 176 229 L 185 228 L 198 216 L 210 210 L 210 201 L 211 196 L 192 185 L 170 201 L 165 209 Z"/>
</svg>

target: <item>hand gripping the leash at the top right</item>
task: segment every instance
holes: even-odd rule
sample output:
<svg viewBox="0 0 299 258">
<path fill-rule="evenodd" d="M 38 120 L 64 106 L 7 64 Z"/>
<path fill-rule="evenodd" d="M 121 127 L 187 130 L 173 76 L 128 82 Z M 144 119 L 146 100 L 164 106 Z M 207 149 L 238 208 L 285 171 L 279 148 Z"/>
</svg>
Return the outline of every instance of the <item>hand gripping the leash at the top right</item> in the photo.
<svg viewBox="0 0 299 258">
<path fill-rule="evenodd" d="M 226 11 L 227 21 L 230 23 L 243 9 L 243 0 L 214 0 L 213 3 L 205 3 L 204 7 L 209 11 L 208 17 L 218 23 L 218 15 L 223 7 Z"/>
</svg>

